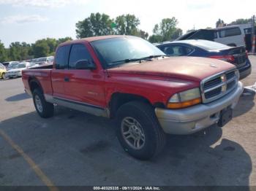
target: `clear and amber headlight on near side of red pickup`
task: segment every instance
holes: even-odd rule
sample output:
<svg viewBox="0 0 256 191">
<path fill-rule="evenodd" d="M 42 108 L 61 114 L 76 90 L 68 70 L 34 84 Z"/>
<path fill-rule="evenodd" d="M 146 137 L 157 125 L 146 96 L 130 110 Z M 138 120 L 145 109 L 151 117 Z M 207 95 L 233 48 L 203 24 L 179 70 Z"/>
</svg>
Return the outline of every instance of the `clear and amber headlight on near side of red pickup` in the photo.
<svg viewBox="0 0 256 191">
<path fill-rule="evenodd" d="M 186 90 L 184 92 L 174 94 L 168 104 L 169 109 L 181 109 L 188 106 L 193 106 L 195 104 L 200 104 L 202 102 L 200 90 L 198 87 Z"/>
</svg>

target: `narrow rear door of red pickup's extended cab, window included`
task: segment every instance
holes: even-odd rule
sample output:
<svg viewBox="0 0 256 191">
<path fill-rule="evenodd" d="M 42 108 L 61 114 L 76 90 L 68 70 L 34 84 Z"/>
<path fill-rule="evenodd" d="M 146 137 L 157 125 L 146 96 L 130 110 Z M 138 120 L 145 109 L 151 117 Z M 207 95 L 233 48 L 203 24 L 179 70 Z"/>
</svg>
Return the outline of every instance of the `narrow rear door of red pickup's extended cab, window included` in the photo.
<svg viewBox="0 0 256 191">
<path fill-rule="evenodd" d="M 64 45 L 56 51 L 55 69 L 52 70 L 51 74 L 54 97 L 65 98 L 64 77 L 68 69 L 69 50 L 70 45 Z"/>
</svg>

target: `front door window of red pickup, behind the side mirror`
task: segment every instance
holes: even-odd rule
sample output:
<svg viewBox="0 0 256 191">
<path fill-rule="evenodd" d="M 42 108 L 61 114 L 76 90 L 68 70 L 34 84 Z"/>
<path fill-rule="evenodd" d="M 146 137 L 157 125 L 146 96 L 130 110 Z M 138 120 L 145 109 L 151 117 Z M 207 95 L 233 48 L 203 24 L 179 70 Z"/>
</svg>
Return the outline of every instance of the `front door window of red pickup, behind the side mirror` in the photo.
<svg viewBox="0 0 256 191">
<path fill-rule="evenodd" d="M 91 55 L 83 44 L 73 44 L 69 55 L 69 69 L 75 69 L 78 61 L 91 61 Z"/>
</svg>

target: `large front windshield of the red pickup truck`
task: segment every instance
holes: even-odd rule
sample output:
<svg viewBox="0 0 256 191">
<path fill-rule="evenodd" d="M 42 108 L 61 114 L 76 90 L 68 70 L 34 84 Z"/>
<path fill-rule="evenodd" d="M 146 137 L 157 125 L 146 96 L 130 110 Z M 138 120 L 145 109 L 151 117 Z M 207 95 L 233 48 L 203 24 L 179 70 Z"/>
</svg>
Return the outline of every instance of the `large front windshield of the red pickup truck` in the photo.
<svg viewBox="0 0 256 191">
<path fill-rule="evenodd" d="M 153 44 L 138 37 L 124 36 L 91 42 L 105 68 L 154 55 L 165 55 Z"/>
</svg>

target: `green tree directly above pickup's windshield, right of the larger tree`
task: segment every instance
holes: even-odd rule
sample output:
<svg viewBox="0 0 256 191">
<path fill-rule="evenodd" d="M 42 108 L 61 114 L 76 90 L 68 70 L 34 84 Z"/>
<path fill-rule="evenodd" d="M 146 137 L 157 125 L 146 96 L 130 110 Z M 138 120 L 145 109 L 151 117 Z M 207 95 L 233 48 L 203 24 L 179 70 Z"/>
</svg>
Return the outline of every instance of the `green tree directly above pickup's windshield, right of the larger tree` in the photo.
<svg viewBox="0 0 256 191">
<path fill-rule="evenodd" d="M 116 34 L 140 36 L 140 31 L 138 29 L 138 26 L 140 25 L 140 20 L 138 19 L 138 17 L 135 17 L 135 15 L 120 15 L 116 17 L 115 23 Z"/>
</svg>

